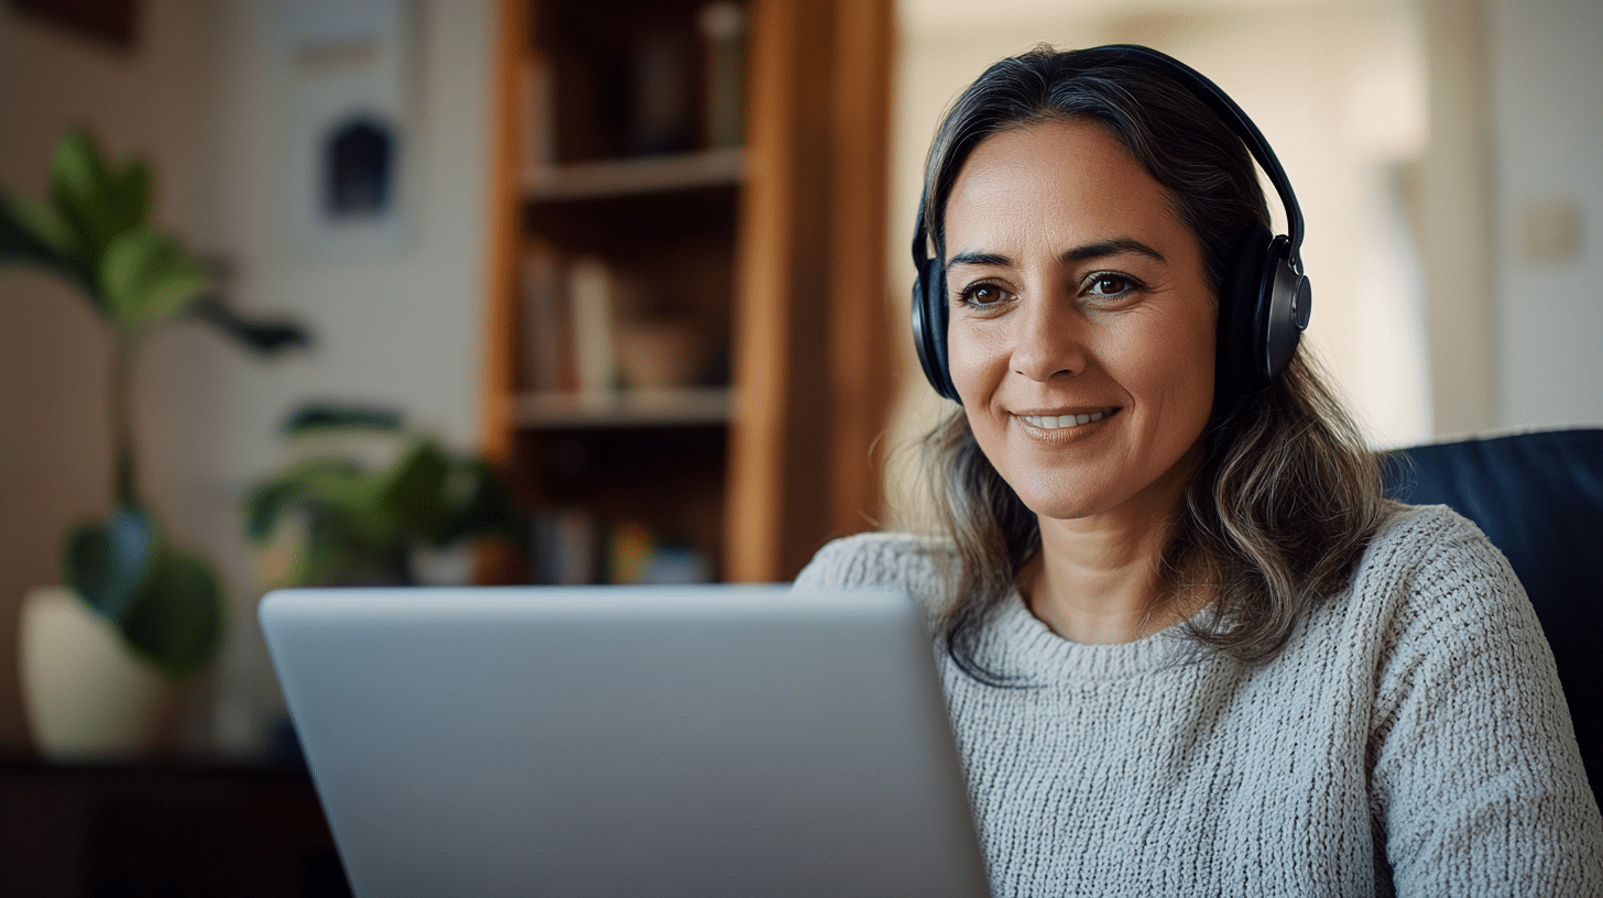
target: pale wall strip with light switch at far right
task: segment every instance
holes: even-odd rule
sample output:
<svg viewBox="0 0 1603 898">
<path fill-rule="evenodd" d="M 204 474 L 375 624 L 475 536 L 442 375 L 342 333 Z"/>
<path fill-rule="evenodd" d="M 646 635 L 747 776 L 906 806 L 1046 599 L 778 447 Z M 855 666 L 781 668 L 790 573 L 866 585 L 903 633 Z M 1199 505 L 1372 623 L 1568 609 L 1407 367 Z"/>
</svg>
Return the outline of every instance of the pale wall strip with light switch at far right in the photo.
<svg viewBox="0 0 1603 898">
<path fill-rule="evenodd" d="M 1603 3 L 1491 0 L 1499 427 L 1603 423 Z M 1531 228 L 1552 234 L 1529 245 Z"/>
</svg>

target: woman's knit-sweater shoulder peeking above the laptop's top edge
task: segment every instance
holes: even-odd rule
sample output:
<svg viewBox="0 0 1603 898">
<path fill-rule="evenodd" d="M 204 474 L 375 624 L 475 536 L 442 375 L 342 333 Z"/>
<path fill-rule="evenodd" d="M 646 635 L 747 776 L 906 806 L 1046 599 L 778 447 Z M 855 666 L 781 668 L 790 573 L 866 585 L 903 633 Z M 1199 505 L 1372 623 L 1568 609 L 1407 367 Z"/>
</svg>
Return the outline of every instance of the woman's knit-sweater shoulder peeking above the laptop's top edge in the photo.
<svg viewBox="0 0 1603 898">
<path fill-rule="evenodd" d="M 920 600 L 941 592 L 951 540 L 907 532 L 862 532 L 829 542 L 797 574 L 797 589 L 901 587 Z"/>
</svg>

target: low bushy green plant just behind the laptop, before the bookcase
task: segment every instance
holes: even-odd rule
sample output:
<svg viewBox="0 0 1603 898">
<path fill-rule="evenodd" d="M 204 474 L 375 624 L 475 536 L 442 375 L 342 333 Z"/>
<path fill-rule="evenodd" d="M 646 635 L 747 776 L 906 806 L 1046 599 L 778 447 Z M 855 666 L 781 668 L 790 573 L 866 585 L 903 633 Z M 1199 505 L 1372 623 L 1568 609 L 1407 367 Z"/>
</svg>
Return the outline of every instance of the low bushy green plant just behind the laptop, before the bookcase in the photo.
<svg viewBox="0 0 1603 898">
<path fill-rule="evenodd" d="M 479 455 L 450 452 L 388 411 L 308 406 L 284 423 L 290 438 L 377 438 L 383 459 L 356 446 L 313 454 L 245 497 L 245 536 L 268 545 L 289 521 L 290 563 L 273 585 L 417 585 L 420 550 L 468 540 L 518 540 L 527 523 L 511 491 Z"/>
</svg>

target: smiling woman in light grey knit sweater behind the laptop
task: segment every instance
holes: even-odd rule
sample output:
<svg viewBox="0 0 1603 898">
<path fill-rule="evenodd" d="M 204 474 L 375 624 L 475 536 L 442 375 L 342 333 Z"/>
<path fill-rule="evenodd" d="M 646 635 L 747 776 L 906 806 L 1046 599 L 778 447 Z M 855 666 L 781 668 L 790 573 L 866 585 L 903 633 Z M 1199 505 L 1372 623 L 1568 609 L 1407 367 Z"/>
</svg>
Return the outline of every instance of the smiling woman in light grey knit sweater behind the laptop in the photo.
<svg viewBox="0 0 1603 898">
<path fill-rule="evenodd" d="M 798 585 L 930 603 L 997 895 L 1600 895 L 1540 625 L 1473 524 L 1382 499 L 1212 91 L 1042 48 L 957 99 L 915 245 L 947 534 Z"/>
</svg>

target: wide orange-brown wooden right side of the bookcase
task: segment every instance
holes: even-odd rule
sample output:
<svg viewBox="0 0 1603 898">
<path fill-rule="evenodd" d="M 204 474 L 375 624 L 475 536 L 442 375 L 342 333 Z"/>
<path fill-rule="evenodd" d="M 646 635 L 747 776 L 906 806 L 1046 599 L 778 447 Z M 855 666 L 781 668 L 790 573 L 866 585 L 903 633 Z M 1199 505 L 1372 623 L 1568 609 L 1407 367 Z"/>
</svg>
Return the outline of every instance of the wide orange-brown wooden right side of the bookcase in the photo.
<svg viewBox="0 0 1603 898">
<path fill-rule="evenodd" d="M 785 580 L 880 505 L 891 0 L 757 0 L 725 577 Z"/>
</svg>

